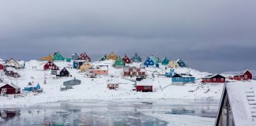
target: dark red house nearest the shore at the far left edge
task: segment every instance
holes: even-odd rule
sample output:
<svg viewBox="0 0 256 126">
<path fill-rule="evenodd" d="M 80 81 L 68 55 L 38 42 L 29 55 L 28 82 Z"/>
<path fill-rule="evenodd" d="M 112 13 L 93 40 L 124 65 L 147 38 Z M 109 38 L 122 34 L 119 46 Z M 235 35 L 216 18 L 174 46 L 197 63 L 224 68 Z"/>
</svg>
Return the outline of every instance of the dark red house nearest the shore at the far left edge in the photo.
<svg viewBox="0 0 256 126">
<path fill-rule="evenodd" d="M 2 96 L 9 96 L 14 95 L 14 97 L 17 97 L 21 94 L 21 87 L 18 87 L 15 84 L 6 84 L 2 87 L 0 87 L 0 94 Z"/>
</svg>

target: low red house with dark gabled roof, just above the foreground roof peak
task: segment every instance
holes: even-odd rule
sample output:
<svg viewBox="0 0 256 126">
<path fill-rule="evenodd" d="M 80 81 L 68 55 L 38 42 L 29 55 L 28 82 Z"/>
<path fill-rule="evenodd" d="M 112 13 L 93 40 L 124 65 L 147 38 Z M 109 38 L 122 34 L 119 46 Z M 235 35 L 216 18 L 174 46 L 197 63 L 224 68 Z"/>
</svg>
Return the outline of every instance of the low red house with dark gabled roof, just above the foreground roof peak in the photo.
<svg viewBox="0 0 256 126">
<path fill-rule="evenodd" d="M 209 75 L 202 78 L 201 83 L 225 83 L 226 78 L 224 76 L 217 75 Z"/>
</svg>

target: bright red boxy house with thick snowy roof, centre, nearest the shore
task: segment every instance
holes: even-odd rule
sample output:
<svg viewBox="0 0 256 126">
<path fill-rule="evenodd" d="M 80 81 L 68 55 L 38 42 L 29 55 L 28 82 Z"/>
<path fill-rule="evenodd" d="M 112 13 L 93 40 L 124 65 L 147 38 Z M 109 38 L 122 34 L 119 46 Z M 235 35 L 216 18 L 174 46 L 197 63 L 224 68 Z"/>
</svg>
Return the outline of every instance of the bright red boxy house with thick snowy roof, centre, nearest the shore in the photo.
<svg viewBox="0 0 256 126">
<path fill-rule="evenodd" d="M 135 90 L 142 92 L 152 92 L 153 81 L 152 80 L 141 80 L 136 81 Z"/>
</svg>

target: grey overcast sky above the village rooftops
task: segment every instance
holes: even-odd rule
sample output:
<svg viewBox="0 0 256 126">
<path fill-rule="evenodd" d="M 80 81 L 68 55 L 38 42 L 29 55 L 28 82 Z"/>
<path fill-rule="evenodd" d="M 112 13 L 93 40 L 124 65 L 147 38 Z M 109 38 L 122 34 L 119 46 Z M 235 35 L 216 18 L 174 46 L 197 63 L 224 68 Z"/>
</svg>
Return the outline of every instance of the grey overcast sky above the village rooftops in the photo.
<svg viewBox="0 0 256 126">
<path fill-rule="evenodd" d="M 207 72 L 256 69 L 256 1 L 0 0 L 0 47 L 3 59 L 113 50 Z"/>
</svg>

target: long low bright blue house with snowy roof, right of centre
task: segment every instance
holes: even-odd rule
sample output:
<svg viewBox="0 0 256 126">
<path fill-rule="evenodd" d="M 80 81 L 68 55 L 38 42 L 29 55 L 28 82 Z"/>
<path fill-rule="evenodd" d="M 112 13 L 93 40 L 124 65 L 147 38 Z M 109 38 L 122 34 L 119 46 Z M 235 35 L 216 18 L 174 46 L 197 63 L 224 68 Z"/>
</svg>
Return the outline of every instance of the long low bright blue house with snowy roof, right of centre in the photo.
<svg viewBox="0 0 256 126">
<path fill-rule="evenodd" d="M 175 74 L 171 76 L 171 83 L 177 85 L 183 85 L 185 83 L 194 83 L 194 76 L 190 74 Z"/>
</svg>

